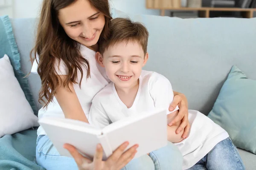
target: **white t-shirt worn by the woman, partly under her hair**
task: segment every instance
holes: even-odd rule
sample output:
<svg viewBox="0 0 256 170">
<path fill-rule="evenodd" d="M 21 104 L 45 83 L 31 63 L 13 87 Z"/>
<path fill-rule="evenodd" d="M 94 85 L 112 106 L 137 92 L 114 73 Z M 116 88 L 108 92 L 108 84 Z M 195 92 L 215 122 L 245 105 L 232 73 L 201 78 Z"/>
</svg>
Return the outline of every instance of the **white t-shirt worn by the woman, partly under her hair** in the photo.
<svg viewBox="0 0 256 170">
<path fill-rule="evenodd" d="M 90 111 L 90 106 L 92 103 L 93 97 L 109 84 L 110 80 L 106 76 L 105 68 L 102 68 L 95 59 L 96 52 L 87 48 L 84 45 L 81 45 L 80 52 L 84 58 L 86 58 L 90 64 L 90 77 L 87 79 L 87 70 L 83 68 L 84 76 L 81 80 L 81 88 L 79 84 L 74 84 L 74 89 L 76 95 L 79 99 L 81 107 L 88 118 L 88 114 Z M 38 64 L 34 61 L 31 72 L 37 73 Z M 67 75 L 67 68 L 64 62 L 61 60 L 60 65 L 56 62 L 55 70 L 58 75 Z M 80 72 L 78 73 L 78 77 L 81 77 Z M 79 82 L 79 81 L 78 81 Z M 53 101 L 49 103 L 46 108 L 41 108 L 38 111 L 38 119 L 40 120 L 42 117 L 63 117 L 64 113 L 61 110 L 60 105 L 58 104 L 56 98 L 53 98 Z M 37 131 L 39 135 L 46 135 L 46 132 L 42 128 L 42 126 L 38 127 Z"/>
</svg>

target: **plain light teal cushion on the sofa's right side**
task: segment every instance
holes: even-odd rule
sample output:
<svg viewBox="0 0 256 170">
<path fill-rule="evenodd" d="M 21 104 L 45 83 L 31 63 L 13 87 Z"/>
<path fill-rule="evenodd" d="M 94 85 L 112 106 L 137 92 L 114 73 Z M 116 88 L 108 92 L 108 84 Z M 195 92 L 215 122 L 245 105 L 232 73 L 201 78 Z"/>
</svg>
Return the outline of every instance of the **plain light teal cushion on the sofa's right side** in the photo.
<svg viewBox="0 0 256 170">
<path fill-rule="evenodd" d="M 256 154 L 256 80 L 233 66 L 208 117 L 237 147 Z"/>
</svg>

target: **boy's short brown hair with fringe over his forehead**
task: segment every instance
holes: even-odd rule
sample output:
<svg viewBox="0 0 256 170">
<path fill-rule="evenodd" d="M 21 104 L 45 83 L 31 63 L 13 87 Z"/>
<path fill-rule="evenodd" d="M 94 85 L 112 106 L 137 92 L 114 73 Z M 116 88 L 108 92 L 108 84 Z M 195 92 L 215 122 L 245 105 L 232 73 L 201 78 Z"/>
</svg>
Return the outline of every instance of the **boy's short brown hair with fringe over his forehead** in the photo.
<svg viewBox="0 0 256 170">
<path fill-rule="evenodd" d="M 110 35 L 107 40 L 99 41 L 99 52 L 104 51 L 119 42 L 138 42 L 147 53 L 148 30 L 143 24 L 132 22 L 128 18 L 115 18 L 111 20 Z"/>
</svg>

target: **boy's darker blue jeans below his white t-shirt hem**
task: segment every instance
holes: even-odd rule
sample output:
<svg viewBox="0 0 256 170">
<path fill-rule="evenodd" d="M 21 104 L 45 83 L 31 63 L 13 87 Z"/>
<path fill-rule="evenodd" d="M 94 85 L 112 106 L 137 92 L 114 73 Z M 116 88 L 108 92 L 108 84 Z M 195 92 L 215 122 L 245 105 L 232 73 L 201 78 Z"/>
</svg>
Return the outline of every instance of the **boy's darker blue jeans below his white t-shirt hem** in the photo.
<svg viewBox="0 0 256 170">
<path fill-rule="evenodd" d="M 236 146 L 227 138 L 188 170 L 245 170 L 245 167 Z"/>
</svg>

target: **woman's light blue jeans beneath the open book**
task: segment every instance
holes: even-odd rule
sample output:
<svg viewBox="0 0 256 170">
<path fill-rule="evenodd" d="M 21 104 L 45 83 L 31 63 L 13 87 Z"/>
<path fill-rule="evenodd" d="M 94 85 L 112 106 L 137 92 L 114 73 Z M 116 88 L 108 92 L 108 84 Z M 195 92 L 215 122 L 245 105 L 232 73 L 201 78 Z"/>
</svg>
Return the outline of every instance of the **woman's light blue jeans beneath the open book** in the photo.
<svg viewBox="0 0 256 170">
<path fill-rule="evenodd" d="M 47 135 L 40 135 L 36 144 L 36 161 L 47 170 L 78 170 L 73 158 L 60 156 Z M 183 157 L 178 148 L 168 142 L 166 147 L 130 161 L 122 170 L 181 170 Z"/>
</svg>

